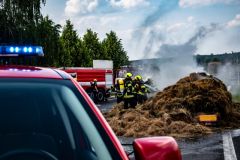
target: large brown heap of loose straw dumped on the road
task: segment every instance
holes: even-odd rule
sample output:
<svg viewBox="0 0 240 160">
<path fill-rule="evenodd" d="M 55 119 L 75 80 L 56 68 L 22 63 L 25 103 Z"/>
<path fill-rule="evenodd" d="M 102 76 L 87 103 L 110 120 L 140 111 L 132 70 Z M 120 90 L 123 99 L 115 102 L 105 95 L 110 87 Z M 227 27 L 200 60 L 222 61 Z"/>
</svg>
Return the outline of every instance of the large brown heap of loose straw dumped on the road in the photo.
<svg viewBox="0 0 240 160">
<path fill-rule="evenodd" d="M 217 113 L 218 127 L 199 124 L 196 117 L 202 113 Z M 118 104 L 104 116 L 118 136 L 194 137 L 240 127 L 240 104 L 232 102 L 219 79 L 192 73 L 135 109 Z"/>
</svg>

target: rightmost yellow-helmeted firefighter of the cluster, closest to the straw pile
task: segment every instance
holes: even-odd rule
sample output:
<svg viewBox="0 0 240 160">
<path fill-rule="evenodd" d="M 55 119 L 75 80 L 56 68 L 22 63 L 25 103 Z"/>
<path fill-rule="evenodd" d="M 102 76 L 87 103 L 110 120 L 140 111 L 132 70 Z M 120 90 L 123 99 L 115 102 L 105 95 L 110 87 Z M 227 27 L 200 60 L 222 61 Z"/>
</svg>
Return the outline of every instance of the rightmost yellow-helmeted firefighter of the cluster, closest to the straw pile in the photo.
<svg viewBox="0 0 240 160">
<path fill-rule="evenodd" d="M 147 100 L 148 89 L 145 86 L 140 75 L 135 76 L 134 81 L 135 81 L 134 89 L 136 91 L 137 102 L 139 104 L 142 104 L 144 101 Z"/>
</svg>

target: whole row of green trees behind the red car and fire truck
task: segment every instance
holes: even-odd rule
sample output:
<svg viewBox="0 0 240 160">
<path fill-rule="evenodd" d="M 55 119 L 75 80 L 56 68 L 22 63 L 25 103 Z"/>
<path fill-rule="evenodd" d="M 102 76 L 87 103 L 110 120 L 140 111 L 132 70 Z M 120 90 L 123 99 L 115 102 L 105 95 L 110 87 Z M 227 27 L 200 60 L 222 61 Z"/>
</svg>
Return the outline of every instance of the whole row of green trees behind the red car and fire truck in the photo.
<svg viewBox="0 0 240 160">
<path fill-rule="evenodd" d="M 0 44 L 41 45 L 43 58 L 11 59 L 51 67 L 91 67 L 95 59 L 113 60 L 114 68 L 128 64 L 121 39 L 114 31 L 100 41 L 91 29 L 80 37 L 70 20 L 62 27 L 41 14 L 45 0 L 0 0 Z M 20 62 L 19 62 L 20 61 Z"/>
</svg>

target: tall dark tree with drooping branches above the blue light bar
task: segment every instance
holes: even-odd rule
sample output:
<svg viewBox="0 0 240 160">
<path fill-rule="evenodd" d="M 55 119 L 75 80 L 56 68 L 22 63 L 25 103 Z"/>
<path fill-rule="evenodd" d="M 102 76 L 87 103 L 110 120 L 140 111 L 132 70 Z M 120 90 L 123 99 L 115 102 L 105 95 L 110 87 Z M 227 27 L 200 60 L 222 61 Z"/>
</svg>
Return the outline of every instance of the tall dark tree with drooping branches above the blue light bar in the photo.
<svg viewBox="0 0 240 160">
<path fill-rule="evenodd" d="M 45 0 L 1 0 L 0 43 L 36 43 L 41 4 Z"/>
</svg>

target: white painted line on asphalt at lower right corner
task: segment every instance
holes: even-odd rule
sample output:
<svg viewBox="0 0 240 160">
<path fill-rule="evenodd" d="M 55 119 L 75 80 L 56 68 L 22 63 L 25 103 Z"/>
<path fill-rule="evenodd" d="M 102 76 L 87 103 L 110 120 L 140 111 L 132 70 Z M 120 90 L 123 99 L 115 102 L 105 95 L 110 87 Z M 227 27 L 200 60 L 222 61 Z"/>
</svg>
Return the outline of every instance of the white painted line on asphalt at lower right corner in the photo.
<svg viewBox="0 0 240 160">
<path fill-rule="evenodd" d="M 222 137 L 223 137 L 224 160 L 237 160 L 231 133 L 230 132 L 224 133 Z"/>
</svg>

